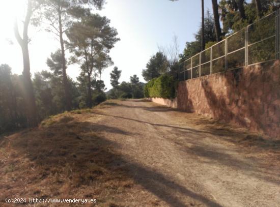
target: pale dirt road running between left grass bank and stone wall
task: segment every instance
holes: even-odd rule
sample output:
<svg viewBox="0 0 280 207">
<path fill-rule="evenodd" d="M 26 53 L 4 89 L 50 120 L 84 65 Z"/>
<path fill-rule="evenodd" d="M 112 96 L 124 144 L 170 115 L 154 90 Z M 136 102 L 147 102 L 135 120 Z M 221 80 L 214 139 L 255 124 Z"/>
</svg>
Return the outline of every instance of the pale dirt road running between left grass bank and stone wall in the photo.
<svg viewBox="0 0 280 207">
<path fill-rule="evenodd" d="M 278 142 L 141 100 L 94 113 L 138 186 L 123 205 L 280 206 Z"/>
</svg>

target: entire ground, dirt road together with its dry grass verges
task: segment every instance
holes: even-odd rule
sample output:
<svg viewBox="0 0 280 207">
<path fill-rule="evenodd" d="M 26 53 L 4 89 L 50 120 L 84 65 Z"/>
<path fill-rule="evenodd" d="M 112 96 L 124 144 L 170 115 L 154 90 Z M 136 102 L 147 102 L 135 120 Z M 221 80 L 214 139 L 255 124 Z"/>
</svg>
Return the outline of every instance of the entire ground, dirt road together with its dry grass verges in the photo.
<svg viewBox="0 0 280 207">
<path fill-rule="evenodd" d="M 280 206 L 280 141 L 144 100 L 0 137 L 0 206 Z M 30 203 L 94 198 L 97 203 Z"/>
</svg>

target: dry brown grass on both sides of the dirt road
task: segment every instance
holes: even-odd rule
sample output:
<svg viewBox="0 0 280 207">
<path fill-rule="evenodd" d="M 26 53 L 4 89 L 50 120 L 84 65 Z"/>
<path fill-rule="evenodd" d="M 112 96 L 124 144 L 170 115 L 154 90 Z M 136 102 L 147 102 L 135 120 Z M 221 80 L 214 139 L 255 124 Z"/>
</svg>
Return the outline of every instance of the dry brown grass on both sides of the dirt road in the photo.
<svg viewBox="0 0 280 207">
<path fill-rule="evenodd" d="M 166 206 L 162 200 L 156 199 L 156 195 L 159 195 L 158 192 L 163 192 L 159 197 L 172 193 L 171 190 L 174 188 L 171 182 L 165 180 L 154 188 L 147 187 L 149 185 L 146 183 L 152 180 L 150 177 L 158 174 L 143 167 L 139 169 L 142 169 L 144 178 L 149 175 L 150 179 L 135 179 L 131 175 L 133 171 L 128 171 L 130 169 L 128 165 L 131 163 L 126 163 L 119 154 L 120 151 L 115 150 L 121 147 L 116 142 L 101 137 L 96 131 L 103 127 L 104 131 L 119 130 L 118 132 L 121 133 L 121 129 L 102 126 L 102 122 L 107 122 L 103 120 L 106 116 L 92 112 L 102 112 L 103 109 L 109 111 L 111 107 L 122 106 L 122 104 L 124 103 L 120 100 L 109 100 L 94 109 L 75 110 L 51 116 L 37 129 L 0 137 L 0 206 L 11 206 L 5 204 L 5 198 L 8 197 L 88 198 L 97 199 L 97 206 L 106 207 L 139 206 L 139 203 L 142 206 Z M 171 114 L 176 117 L 174 119 L 176 125 L 180 123 L 183 126 L 199 129 L 207 136 L 219 135 L 215 138 L 220 139 L 224 146 L 227 140 L 238 146 L 244 146 L 246 151 L 260 147 L 265 150 L 264 157 L 269 156 L 269 160 L 275 159 L 275 163 L 278 163 L 279 142 L 270 141 L 263 135 L 251 134 L 244 129 L 202 116 L 152 105 L 155 107 L 149 107 L 149 111 L 164 111 Z M 115 122 L 119 120 L 116 119 Z M 169 120 L 169 122 L 172 124 L 173 121 Z M 271 152 L 267 153 L 268 151 Z M 132 166 L 138 165 L 132 163 Z M 155 178 L 156 181 L 157 179 Z M 169 188 L 162 190 L 160 187 L 164 184 Z M 144 189 L 145 186 L 147 189 Z M 147 193 L 149 190 L 152 193 Z M 76 204 L 36 206 L 76 206 Z M 82 204 L 82 206 L 95 206 L 95 204 Z"/>
</svg>

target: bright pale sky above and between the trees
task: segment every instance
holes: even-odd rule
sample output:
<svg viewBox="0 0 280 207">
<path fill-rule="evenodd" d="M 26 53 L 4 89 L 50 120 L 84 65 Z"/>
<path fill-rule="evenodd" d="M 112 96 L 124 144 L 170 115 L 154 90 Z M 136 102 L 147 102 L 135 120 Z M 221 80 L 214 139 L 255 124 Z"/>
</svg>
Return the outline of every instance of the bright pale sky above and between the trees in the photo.
<svg viewBox="0 0 280 207">
<path fill-rule="evenodd" d="M 207 8 L 212 12 L 211 0 L 205 0 L 205 11 Z M 134 74 L 145 82 L 142 70 L 158 51 L 158 46 L 172 44 L 176 35 L 181 53 L 186 41 L 194 40 L 193 34 L 198 31 L 201 22 L 201 1 L 106 0 L 102 11 L 93 12 L 110 19 L 110 25 L 119 33 L 121 40 L 111 49 L 110 56 L 114 66 L 122 70 L 120 82 L 129 81 Z M 23 63 L 20 46 L 13 34 L 13 21 L 15 16 L 20 18 L 23 15 L 23 0 L 0 0 L 0 64 L 10 65 L 12 72 L 17 74 L 22 73 Z M 30 26 L 29 37 L 31 73 L 48 70 L 47 57 L 60 47 L 60 43 L 38 27 Z M 107 89 L 111 88 L 110 72 L 114 66 L 105 69 L 101 77 Z M 78 65 L 67 69 L 67 74 L 74 80 L 79 72 Z"/>
</svg>

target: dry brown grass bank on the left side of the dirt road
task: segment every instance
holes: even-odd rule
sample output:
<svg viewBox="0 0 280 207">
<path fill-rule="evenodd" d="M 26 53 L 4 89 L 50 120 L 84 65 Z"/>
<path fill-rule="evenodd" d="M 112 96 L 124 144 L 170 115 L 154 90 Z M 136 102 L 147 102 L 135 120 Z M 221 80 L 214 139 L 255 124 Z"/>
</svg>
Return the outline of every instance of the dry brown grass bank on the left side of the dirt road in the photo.
<svg viewBox="0 0 280 207">
<path fill-rule="evenodd" d="M 134 183 L 116 164 L 113 143 L 92 130 L 102 117 L 91 110 L 52 116 L 38 129 L 0 139 L 0 206 L 6 197 L 89 198 L 119 206 L 116 197 Z"/>
</svg>

